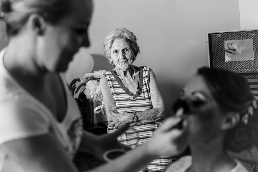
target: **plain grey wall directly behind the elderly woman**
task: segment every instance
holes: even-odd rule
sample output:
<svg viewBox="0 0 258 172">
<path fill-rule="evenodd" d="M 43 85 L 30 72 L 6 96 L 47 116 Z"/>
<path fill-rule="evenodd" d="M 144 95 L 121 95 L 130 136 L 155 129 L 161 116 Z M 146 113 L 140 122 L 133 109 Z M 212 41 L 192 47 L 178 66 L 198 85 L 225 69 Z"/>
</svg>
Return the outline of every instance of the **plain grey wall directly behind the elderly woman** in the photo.
<svg viewBox="0 0 258 172">
<path fill-rule="evenodd" d="M 239 1 L 96 0 L 88 49 L 93 70 L 111 69 L 101 44 L 116 28 L 128 28 L 138 38 L 134 65 L 153 69 L 170 114 L 179 89 L 198 67 L 208 65 L 207 32 L 240 30 Z"/>
</svg>

